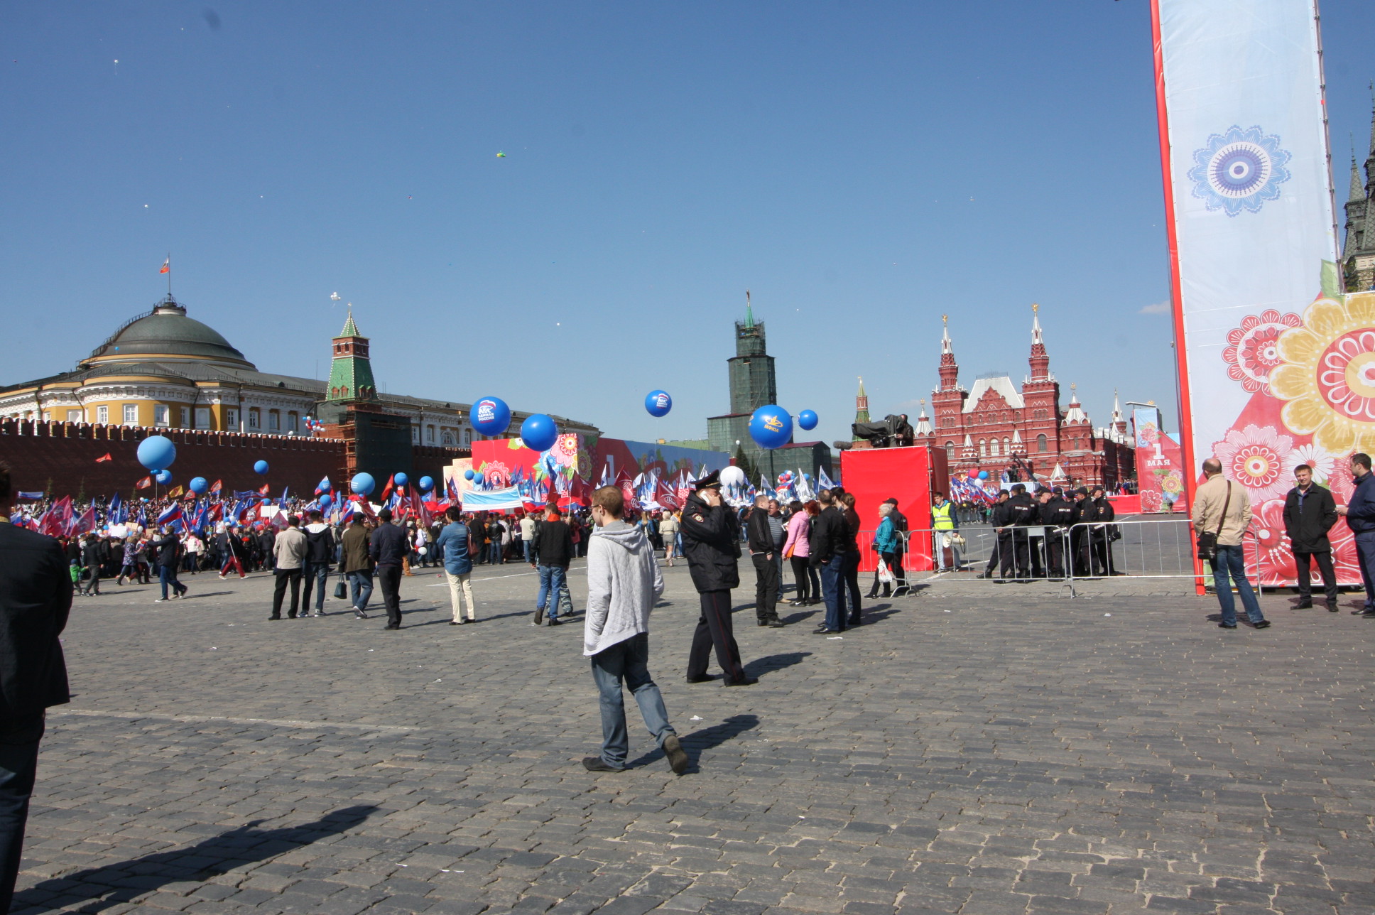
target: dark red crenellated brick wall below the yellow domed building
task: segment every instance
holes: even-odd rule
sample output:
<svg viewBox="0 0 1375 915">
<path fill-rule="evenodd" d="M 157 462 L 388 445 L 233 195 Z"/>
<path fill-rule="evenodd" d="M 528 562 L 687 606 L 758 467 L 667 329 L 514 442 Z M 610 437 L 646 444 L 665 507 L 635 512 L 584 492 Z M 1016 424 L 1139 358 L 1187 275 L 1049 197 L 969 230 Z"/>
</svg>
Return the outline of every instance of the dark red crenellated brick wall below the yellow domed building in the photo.
<svg viewBox="0 0 1375 915">
<path fill-rule="evenodd" d="M 22 435 L 21 435 L 22 432 Z M 10 465 L 15 490 L 47 490 L 54 495 L 128 495 L 147 471 L 136 457 L 139 442 L 165 435 L 176 444 L 172 486 L 186 486 L 194 476 L 209 483 L 224 482 L 224 490 L 257 488 L 271 484 L 272 494 L 283 486 L 311 495 L 322 476 L 336 486 L 344 482 L 344 443 L 337 439 L 241 435 L 236 432 L 192 432 L 188 429 L 147 429 L 84 422 L 22 422 L 0 420 L 0 461 Z M 111 460 L 96 464 L 110 454 Z M 267 461 L 267 476 L 253 472 L 253 464 Z M 151 494 L 151 490 L 142 493 Z"/>
</svg>

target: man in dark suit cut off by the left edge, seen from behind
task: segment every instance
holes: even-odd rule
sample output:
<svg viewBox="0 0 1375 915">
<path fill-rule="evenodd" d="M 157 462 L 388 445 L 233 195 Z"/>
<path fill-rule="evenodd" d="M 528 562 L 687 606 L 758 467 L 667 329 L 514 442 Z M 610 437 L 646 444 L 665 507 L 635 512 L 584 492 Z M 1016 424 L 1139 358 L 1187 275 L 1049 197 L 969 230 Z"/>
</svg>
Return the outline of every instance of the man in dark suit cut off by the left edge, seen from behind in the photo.
<svg viewBox="0 0 1375 915">
<path fill-rule="evenodd" d="M 72 574 L 58 541 L 10 523 L 10 468 L 3 462 L 0 556 L 0 912 L 8 912 L 44 709 L 72 699 L 58 643 L 72 610 Z"/>
</svg>

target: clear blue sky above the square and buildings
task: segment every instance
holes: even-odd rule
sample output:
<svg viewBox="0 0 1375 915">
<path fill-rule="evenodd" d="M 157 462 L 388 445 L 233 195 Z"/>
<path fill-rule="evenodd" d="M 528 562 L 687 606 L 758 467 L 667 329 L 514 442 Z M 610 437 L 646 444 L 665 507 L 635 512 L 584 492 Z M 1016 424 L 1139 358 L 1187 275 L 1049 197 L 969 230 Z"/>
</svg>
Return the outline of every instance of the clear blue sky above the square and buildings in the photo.
<svg viewBox="0 0 1375 915">
<path fill-rule="evenodd" d="M 1323 4 L 1338 204 L 1372 25 Z M 825 440 L 855 376 L 916 413 L 946 312 L 967 385 L 1020 381 L 1031 301 L 1096 422 L 1118 387 L 1176 428 L 1145 0 L 10 4 L 0 48 L 4 384 L 170 250 L 264 370 L 327 373 L 337 290 L 388 391 L 622 438 L 726 410 L 747 288 Z"/>
</svg>

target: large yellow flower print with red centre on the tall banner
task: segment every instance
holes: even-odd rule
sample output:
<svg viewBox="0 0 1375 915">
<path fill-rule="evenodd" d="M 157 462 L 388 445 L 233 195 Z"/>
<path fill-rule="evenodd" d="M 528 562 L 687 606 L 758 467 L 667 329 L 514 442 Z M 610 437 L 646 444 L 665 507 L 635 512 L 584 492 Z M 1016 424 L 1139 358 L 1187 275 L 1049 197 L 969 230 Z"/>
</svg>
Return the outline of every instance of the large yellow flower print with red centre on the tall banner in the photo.
<svg viewBox="0 0 1375 915">
<path fill-rule="evenodd" d="M 1375 449 L 1375 293 L 1319 299 L 1280 334 L 1270 389 L 1291 432 L 1331 454 Z"/>
</svg>

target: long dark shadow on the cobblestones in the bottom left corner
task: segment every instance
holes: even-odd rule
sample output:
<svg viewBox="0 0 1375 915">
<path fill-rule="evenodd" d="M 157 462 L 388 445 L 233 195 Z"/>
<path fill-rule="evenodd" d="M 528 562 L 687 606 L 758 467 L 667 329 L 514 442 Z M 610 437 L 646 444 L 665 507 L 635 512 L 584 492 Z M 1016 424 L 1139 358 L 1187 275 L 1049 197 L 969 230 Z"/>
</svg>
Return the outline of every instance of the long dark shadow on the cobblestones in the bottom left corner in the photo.
<svg viewBox="0 0 1375 915">
<path fill-rule="evenodd" d="M 348 831 L 378 809 L 373 804 L 342 808 L 314 823 L 276 830 L 258 830 L 256 827 L 261 820 L 254 820 L 190 848 L 43 881 L 15 893 L 11 911 L 48 912 L 80 904 L 82 912 L 99 912 L 131 903 L 168 883 L 204 881 Z"/>
</svg>

